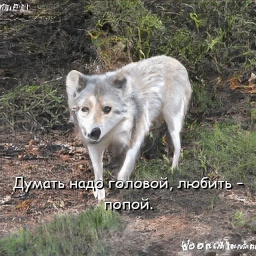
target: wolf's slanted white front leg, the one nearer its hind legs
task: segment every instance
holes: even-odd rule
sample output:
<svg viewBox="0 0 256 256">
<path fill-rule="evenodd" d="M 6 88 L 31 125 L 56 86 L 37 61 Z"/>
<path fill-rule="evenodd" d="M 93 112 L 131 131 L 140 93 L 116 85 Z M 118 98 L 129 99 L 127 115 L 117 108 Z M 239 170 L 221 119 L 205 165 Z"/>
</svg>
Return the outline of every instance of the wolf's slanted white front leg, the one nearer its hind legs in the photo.
<svg viewBox="0 0 256 256">
<path fill-rule="evenodd" d="M 117 175 L 117 180 L 122 180 L 123 182 L 125 182 L 129 178 L 132 170 L 135 167 L 140 147 L 147 132 L 148 130 L 144 130 L 136 136 L 136 139 L 133 140 L 132 146 L 127 150 L 123 165 Z"/>
</svg>

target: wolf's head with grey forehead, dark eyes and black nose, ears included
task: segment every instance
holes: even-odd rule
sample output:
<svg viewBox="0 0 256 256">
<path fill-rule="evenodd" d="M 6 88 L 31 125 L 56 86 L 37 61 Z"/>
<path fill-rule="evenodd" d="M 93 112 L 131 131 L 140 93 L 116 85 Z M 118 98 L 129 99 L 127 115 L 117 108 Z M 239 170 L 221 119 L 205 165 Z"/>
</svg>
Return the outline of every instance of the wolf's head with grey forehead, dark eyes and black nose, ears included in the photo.
<svg viewBox="0 0 256 256">
<path fill-rule="evenodd" d="M 84 75 L 72 70 L 67 74 L 69 121 L 78 126 L 85 142 L 101 141 L 125 119 L 129 83 L 130 77 L 123 73 Z"/>
</svg>

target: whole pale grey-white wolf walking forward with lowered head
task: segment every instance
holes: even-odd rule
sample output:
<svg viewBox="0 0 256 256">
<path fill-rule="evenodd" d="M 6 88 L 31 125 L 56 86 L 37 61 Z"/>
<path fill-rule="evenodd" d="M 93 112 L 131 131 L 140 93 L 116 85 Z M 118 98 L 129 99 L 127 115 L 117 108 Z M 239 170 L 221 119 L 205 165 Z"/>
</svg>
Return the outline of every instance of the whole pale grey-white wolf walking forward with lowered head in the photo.
<svg viewBox="0 0 256 256">
<path fill-rule="evenodd" d="M 105 73 L 66 76 L 70 122 L 78 128 L 91 159 L 94 181 L 103 181 L 106 148 L 123 155 L 117 180 L 125 182 L 135 167 L 144 138 L 161 121 L 172 140 L 171 168 L 179 165 L 184 116 L 192 86 L 186 68 L 175 58 L 159 55 Z M 93 191 L 98 200 L 105 190 Z"/>
</svg>

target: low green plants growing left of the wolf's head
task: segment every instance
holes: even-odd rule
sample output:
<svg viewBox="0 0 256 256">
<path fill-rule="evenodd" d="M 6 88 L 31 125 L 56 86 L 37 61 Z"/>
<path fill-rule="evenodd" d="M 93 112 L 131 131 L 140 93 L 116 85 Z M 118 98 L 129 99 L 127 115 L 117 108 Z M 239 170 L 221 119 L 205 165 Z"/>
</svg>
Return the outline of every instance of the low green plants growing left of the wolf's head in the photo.
<svg viewBox="0 0 256 256">
<path fill-rule="evenodd" d="M 50 129 L 63 123 L 64 96 L 50 85 L 17 86 L 0 98 L 1 128 Z"/>
</svg>

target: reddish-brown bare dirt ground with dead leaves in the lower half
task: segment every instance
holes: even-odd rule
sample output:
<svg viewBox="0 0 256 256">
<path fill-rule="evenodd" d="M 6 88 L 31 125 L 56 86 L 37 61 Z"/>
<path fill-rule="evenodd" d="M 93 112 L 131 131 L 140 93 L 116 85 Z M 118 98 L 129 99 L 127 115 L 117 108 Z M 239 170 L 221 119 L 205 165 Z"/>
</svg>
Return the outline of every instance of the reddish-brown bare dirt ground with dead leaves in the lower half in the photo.
<svg viewBox="0 0 256 256">
<path fill-rule="evenodd" d="M 66 135 L 56 132 L 42 137 L 26 132 L 1 134 L 0 154 L 0 236 L 21 226 L 33 228 L 55 214 L 77 214 L 97 203 L 91 191 L 69 189 L 69 180 L 93 178 L 88 154 L 71 130 Z M 13 192 L 14 177 L 19 175 L 26 181 L 60 180 L 66 189 Z M 246 186 L 216 191 L 179 190 L 175 185 L 172 192 L 149 189 L 138 193 L 149 198 L 153 210 L 120 211 L 126 227 L 114 241 L 113 255 L 255 255 L 255 251 L 226 254 L 214 249 L 203 254 L 202 250 L 182 251 L 180 247 L 187 239 L 255 244 L 255 235 L 247 227 L 232 226 L 231 222 L 238 210 L 248 217 L 255 215 L 256 196 Z M 123 195 L 108 190 L 107 200 L 122 201 Z"/>
</svg>

